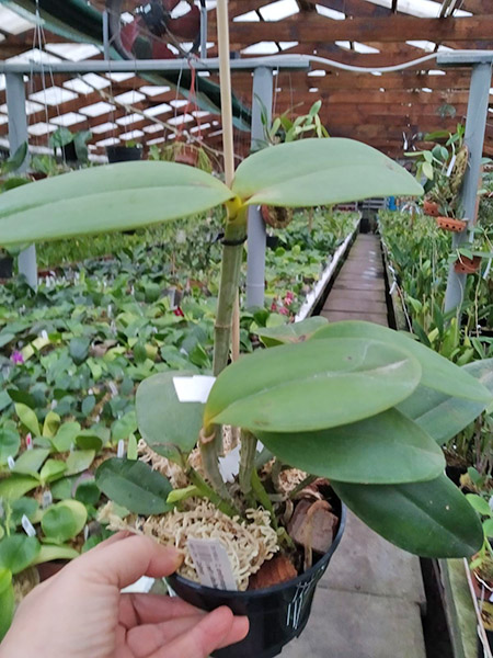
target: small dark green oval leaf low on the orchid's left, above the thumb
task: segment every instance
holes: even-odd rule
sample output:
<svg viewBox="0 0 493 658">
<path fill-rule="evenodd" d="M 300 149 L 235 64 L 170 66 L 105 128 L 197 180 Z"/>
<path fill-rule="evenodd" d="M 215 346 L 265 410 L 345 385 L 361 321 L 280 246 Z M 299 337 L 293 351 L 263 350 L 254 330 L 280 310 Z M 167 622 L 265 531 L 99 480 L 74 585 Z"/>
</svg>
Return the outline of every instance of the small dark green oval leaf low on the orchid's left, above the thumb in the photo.
<svg viewBox="0 0 493 658">
<path fill-rule="evenodd" d="M 101 464 L 95 481 L 107 498 L 136 514 L 162 514 L 172 489 L 169 480 L 144 462 L 114 457 Z"/>
</svg>

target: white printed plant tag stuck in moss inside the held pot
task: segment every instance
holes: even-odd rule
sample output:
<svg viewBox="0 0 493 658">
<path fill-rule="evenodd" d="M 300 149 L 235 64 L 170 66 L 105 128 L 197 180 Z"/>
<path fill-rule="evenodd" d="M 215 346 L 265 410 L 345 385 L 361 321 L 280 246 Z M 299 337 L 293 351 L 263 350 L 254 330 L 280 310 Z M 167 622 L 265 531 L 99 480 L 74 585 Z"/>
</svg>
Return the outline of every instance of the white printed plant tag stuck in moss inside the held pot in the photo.
<svg viewBox="0 0 493 658">
<path fill-rule="evenodd" d="M 220 542 L 191 537 L 187 545 L 200 585 L 214 589 L 238 589 L 228 553 Z"/>
</svg>

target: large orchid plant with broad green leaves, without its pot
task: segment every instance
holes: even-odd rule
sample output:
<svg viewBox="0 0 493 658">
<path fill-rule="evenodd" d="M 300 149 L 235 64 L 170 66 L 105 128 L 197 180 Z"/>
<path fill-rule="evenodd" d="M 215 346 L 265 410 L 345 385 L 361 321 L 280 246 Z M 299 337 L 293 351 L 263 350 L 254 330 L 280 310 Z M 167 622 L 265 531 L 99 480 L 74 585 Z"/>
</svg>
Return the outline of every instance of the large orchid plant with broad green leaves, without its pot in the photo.
<svg viewBox="0 0 493 658">
<path fill-rule="evenodd" d="M 146 464 L 113 458 L 100 467 L 102 490 L 139 514 L 165 513 L 187 494 L 230 515 L 246 506 L 268 508 L 257 472 L 261 441 L 280 464 L 329 478 L 356 514 L 402 548 L 442 557 L 474 553 L 482 545 L 481 524 L 444 475 L 439 444 L 491 405 L 491 361 L 460 368 L 404 334 L 357 321 L 271 329 L 265 338 L 276 347 L 228 365 L 249 206 L 310 207 L 421 193 L 382 154 L 330 138 L 254 154 L 230 188 L 187 166 L 144 161 L 80 170 L 1 195 L 7 246 L 226 208 L 214 386 L 205 401 L 182 402 L 174 379 L 183 373 L 165 372 L 137 392 L 141 436 L 183 469 L 190 488 L 173 492 Z M 218 466 L 223 424 L 242 430 L 234 488 L 240 494 Z M 197 444 L 204 477 L 188 460 Z"/>
</svg>

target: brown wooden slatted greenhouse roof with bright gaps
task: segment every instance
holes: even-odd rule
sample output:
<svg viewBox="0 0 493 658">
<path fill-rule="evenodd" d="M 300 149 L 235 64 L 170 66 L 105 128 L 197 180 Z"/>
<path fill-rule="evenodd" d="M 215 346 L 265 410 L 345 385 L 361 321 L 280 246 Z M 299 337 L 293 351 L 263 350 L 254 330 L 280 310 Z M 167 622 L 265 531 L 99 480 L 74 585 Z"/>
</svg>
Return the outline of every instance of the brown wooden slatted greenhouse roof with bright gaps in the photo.
<svg viewBox="0 0 493 658">
<path fill-rule="evenodd" d="M 170 1 L 174 16 L 190 9 L 184 0 Z M 196 102 L 192 94 L 188 102 L 190 77 L 179 76 L 176 89 L 176 80 L 133 72 L 50 73 L 53 63 L 102 59 L 102 35 L 94 36 L 100 30 L 96 23 L 83 34 L 80 27 L 53 21 L 43 11 L 36 20 L 30 13 L 34 4 L 32 0 L 0 4 L 0 59 L 46 65 L 44 76 L 26 79 L 33 146 L 46 146 L 49 134 L 61 125 L 72 132 L 91 129 L 94 155 L 102 155 L 110 143 L 128 139 L 164 144 L 175 138 L 176 131 L 220 148 L 220 116 L 214 111 L 217 98 L 204 103 L 204 98 Z M 39 2 L 42 8 L 48 4 L 56 2 Z M 105 0 L 83 4 L 101 20 Z M 124 2 L 127 8 L 139 4 L 137 0 Z M 215 7 L 215 1 L 207 1 L 209 57 L 217 56 Z M 230 0 L 229 7 L 231 50 L 237 56 L 317 55 L 370 69 L 354 72 L 317 63 L 310 71 L 275 71 L 275 113 L 305 114 L 321 99 L 320 116 L 332 136 L 360 139 L 393 157 L 412 148 L 423 134 L 454 131 L 463 121 L 470 70 L 442 70 L 435 59 L 400 71 L 375 69 L 434 53 L 493 49 L 493 0 Z M 124 22 L 131 20 L 130 14 L 123 15 Z M 217 83 L 218 76 L 202 71 L 197 80 Z M 233 72 L 232 84 L 239 106 L 250 107 L 252 73 Z M 484 151 L 493 156 L 493 89 L 490 101 Z M 0 145 L 7 144 L 5 113 L 4 78 L 0 76 Z M 239 152 L 248 152 L 245 131 L 237 131 L 236 145 Z"/>
</svg>

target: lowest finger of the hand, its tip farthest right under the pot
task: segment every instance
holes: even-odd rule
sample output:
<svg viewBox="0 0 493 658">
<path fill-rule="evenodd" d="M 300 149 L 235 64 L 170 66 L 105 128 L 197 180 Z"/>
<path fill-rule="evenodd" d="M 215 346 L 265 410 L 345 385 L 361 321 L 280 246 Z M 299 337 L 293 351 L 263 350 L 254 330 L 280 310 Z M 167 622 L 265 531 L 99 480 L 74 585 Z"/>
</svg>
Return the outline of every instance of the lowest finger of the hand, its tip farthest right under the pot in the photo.
<svg viewBox="0 0 493 658">
<path fill-rule="evenodd" d="M 229 608 L 218 608 L 187 633 L 161 647 L 149 658 L 207 658 L 215 649 L 243 639 L 249 624 L 245 617 L 234 617 Z"/>
</svg>

